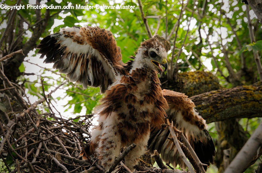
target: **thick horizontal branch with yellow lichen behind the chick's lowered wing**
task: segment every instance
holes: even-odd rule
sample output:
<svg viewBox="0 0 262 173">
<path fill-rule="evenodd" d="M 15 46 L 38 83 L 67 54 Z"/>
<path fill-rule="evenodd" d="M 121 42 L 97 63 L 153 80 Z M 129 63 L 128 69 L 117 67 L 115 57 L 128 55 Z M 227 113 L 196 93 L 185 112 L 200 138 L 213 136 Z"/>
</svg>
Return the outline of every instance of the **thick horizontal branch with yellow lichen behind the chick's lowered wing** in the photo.
<svg viewBox="0 0 262 173">
<path fill-rule="evenodd" d="M 262 86 L 238 86 L 192 96 L 196 109 L 207 123 L 230 118 L 262 117 Z"/>
</svg>

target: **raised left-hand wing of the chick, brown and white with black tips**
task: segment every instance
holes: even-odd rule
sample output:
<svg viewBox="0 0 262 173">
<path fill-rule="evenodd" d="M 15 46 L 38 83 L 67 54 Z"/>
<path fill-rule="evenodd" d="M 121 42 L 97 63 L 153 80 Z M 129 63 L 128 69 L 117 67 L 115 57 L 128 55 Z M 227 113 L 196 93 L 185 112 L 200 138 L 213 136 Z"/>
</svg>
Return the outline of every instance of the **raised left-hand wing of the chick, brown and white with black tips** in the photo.
<svg viewBox="0 0 262 173">
<path fill-rule="evenodd" d="M 107 90 L 123 66 L 121 49 L 110 31 L 99 27 L 62 28 L 48 35 L 37 46 L 45 63 L 67 74 L 72 82 Z"/>
</svg>

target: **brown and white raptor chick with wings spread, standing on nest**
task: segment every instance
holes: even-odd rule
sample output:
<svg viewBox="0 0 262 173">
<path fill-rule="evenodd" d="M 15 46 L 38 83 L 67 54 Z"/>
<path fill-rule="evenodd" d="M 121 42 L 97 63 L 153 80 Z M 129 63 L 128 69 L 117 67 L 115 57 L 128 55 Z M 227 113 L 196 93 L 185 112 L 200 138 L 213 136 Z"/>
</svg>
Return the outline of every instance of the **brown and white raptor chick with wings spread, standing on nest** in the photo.
<svg viewBox="0 0 262 173">
<path fill-rule="evenodd" d="M 161 126 L 169 118 L 178 130 L 183 130 L 200 159 L 208 165 L 213 163 L 213 140 L 194 103 L 185 94 L 162 90 L 160 86 L 158 73 L 167 70 L 170 49 L 163 40 L 153 37 L 142 41 L 126 63 L 112 32 L 98 26 L 61 28 L 43 38 L 37 48 L 40 58 L 54 63 L 53 68 L 65 73 L 69 81 L 83 88 L 100 87 L 105 94 L 94 109 L 98 125 L 80 154 L 83 159 L 93 154 L 108 170 L 121 149 L 135 143 L 124 161 L 130 170 L 135 171 L 147 149 L 158 150 L 164 161 L 185 168 L 168 140 L 167 128 Z"/>
</svg>

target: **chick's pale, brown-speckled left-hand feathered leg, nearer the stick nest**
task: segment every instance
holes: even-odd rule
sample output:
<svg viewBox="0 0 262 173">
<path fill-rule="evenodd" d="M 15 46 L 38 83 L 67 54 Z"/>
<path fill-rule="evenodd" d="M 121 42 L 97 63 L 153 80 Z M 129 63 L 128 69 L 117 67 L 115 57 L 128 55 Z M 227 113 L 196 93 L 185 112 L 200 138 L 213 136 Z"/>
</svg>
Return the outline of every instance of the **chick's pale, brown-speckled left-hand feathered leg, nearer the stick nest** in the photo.
<svg viewBox="0 0 262 173">
<path fill-rule="evenodd" d="M 121 136 L 117 131 L 116 125 L 106 125 L 100 136 L 100 141 L 96 152 L 98 160 L 105 170 L 114 163 L 115 157 L 120 153 Z"/>
</svg>

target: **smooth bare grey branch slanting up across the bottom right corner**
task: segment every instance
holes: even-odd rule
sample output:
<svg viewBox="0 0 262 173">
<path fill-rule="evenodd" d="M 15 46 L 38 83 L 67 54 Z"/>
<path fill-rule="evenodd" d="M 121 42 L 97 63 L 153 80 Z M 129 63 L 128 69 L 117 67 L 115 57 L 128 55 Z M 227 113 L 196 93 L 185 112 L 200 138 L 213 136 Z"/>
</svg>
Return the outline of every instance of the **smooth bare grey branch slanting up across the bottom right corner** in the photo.
<svg viewBox="0 0 262 173">
<path fill-rule="evenodd" d="M 262 123 L 242 147 L 224 173 L 242 172 L 262 144 Z"/>
</svg>

